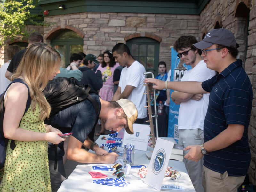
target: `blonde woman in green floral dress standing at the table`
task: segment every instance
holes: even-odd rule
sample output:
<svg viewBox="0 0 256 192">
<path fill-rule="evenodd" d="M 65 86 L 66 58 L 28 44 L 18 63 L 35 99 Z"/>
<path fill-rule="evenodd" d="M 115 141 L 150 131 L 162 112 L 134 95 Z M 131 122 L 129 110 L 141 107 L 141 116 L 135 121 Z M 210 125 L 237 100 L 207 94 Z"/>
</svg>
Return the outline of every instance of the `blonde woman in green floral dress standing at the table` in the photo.
<svg viewBox="0 0 256 192">
<path fill-rule="evenodd" d="M 37 42 L 28 47 L 12 77 L 18 80 L 11 83 L 4 98 L 3 130 L 4 136 L 10 140 L 0 191 L 51 192 L 48 141 L 58 144 L 64 139 L 58 136 L 62 134 L 58 129 L 44 124 L 51 107 L 42 91 L 48 81 L 60 73 L 60 61 L 56 50 Z M 29 96 L 30 106 L 27 104 Z M 29 108 L 24 113 L 26 107 Z M 16 144 L 13 150 L 11 140 Z"/>
</svg>

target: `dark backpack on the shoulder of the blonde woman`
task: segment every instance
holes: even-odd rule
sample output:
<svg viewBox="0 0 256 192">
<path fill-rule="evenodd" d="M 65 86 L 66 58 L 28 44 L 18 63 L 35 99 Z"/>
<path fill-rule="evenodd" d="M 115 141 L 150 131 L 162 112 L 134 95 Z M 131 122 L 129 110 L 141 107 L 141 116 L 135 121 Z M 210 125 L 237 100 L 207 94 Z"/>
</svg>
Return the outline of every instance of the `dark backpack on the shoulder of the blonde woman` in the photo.
<svg viewBox="0 0 256 192">
<path fill-rule="evenodd" d="M 25 84 L 22 79 L 14 79 L 8 85 L 5 92 L 10 87 L 10 85 L 12 83 L 15 83 L 15 82 L 20 82 L 20 83 Z M 28 85 L 27 84 L 25 84 L 25 85 L 28 88 Z M 6 146 L 7 146 L 7 143 L 9 141 L 9 139 L 4 137 L 4 130 L 3 130 L 4 112 L 5 112 L 5 107 L 4 107 L 4 94 L 5 94 L 5 92 L 3 92 L 0 95 L 0 169 L 4 167 L 4 162 L 5 162 L 5 157 L 6 157 Z M 30 95 L 29 95 L 29 88 L 28 88 L 28 100 L 27 100 L 27 106 L 28 107 L 26 107 L 24 114 L 28 111 L 30 103 L 31 103 L 31 98 L 30 98 Z M 11 147 L 12 150 L 14 150 L 14 148 L 15 148 L 15 141 L 14 140 L 12 140 L 10 147 Z"/>
</svg>

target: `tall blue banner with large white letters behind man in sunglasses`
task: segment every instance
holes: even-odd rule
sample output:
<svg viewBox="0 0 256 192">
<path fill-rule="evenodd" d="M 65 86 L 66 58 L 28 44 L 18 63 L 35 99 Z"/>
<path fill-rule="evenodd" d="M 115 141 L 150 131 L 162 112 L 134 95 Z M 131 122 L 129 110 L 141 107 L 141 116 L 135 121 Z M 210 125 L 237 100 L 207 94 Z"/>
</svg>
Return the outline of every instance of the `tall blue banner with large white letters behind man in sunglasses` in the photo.
<svg viewBox="0 0 256 192">
<path fill-rule="evenodd" d="M 180 81 L 183 75 L 191 69 L 190 65 L 185 65 L 185 63 L 180 63 L 180 58 L 177 57 L 177 52 L 171 48 L 171 81 Z M 170 95 L 173 90 L 171 89 Z M 180 105 L 176 105 L 172 102 L 170 97 L 169 106 L 169 120 L 168 120 L 168 137 L 173 137 L 177 142 L 179 138 L 178 129 L 178 116 L 179 116 Z"/>
</svg>

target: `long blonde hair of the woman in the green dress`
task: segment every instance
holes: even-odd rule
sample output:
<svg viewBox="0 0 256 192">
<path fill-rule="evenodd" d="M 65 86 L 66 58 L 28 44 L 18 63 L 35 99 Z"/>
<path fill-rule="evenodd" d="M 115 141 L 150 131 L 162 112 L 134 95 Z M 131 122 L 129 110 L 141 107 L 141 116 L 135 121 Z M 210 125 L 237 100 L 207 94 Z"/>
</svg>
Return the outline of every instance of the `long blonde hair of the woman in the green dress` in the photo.
<svg viewBox="0 0 256 192">
<path fill-rule="evenodd" d="M 43 90 L 50 76 L 57 67 L 60 67 L 60 54 L 42 42 L 36 42 L 28 47 L 17 68 L 12 80 L 22 76 L 29 87 L 31 97 L 31 109 L 35 110 L 39 105 L 39 118 L 49 117 L 51 106 L 44 97 Z"/>
</svg>

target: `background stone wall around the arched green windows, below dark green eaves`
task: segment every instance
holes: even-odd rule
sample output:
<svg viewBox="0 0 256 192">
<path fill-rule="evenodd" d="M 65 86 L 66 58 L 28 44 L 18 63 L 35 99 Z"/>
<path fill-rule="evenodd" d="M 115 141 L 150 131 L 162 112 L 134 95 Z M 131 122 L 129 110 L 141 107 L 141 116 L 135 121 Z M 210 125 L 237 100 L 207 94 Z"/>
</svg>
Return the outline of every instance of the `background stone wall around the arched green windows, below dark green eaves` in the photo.
<svg viewBox="0 0 256 192">
<path fill-rule="evenodd" d="M 159 61 L 166 62 L 168 70 L 170 46 L 181 35 L 198 37 L 199 29 L 198 15 L 87 12 L 45 17 L 45 21 L 55 24 L 44 28 L 44 38 L 51 37 L 54 28 L 75 27 L 84 34 L 84 53 L 96 56 L 132 37 L 154 38 L 160 41 Z"/>
</svg>

